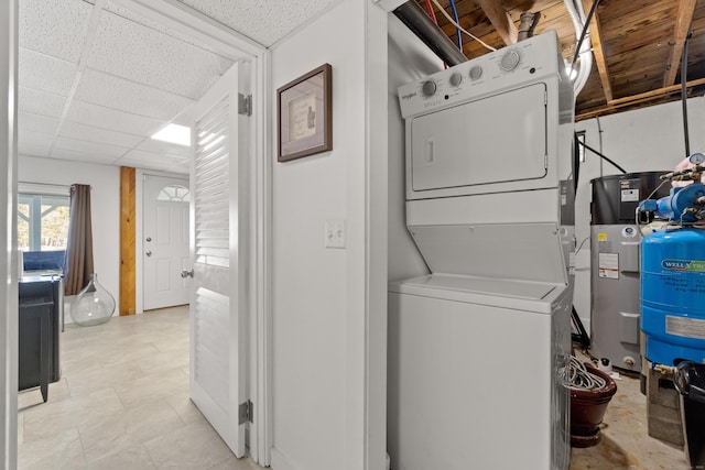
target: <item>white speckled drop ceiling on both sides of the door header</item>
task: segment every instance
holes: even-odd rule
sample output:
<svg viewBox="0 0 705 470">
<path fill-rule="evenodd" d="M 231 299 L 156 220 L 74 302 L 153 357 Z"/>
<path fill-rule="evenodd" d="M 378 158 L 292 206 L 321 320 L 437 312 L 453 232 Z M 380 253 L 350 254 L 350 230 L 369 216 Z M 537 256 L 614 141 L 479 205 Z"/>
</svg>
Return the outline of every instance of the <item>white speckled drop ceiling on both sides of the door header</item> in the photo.
<svg viewBox="0 0 705 470">
<path fill-rule="evenodd" d="M 184 0 L 270 46 L 336 0 Z M 20 0 L 19 154 L 188 172 L 189 149 L 150 136 L 231 65 L 109 0 Z"/>
</svg>

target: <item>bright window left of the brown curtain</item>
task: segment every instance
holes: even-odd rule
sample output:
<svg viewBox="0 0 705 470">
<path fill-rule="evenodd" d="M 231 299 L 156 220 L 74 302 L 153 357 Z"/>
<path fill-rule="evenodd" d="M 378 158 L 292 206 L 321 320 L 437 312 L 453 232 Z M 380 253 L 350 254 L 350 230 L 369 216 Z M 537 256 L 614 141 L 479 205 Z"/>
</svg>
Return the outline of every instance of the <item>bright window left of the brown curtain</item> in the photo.
<svg viewBox="0 0 705 470">
<path fill-rule="evenodd" d="M 69 197 L 18 195 L 20 251 L 64 251 L 68 237 Z"/>
</svg>

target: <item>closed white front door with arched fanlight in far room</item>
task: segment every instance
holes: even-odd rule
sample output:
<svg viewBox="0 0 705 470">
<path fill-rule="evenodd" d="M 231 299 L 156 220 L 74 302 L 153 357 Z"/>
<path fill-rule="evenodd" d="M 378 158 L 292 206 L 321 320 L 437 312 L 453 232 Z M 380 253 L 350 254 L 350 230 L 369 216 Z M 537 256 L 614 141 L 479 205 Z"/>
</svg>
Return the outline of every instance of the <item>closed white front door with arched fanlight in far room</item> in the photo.
<svg viewBox="0 0 705 470">
<path fill-rule="evenodd" d="M 144 309 L 188 304 L 188 179 L 145 174 L 143 187 Z"/>
</svg>

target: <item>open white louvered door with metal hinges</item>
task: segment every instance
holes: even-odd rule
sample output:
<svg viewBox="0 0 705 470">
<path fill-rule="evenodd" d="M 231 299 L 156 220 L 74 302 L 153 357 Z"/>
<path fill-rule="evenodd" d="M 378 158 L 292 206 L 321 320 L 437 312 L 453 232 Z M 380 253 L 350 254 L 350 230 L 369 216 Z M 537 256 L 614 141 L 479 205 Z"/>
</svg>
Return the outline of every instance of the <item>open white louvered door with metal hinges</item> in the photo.
<svg viewBox="0 0 705 470">
<path fill-rule="evenodd" d="M 223 440 L 245 455 L 250 209 L 249 65 L 236 63 L 195 107 L 192 127 L 191 396 Z"/>
</svg>

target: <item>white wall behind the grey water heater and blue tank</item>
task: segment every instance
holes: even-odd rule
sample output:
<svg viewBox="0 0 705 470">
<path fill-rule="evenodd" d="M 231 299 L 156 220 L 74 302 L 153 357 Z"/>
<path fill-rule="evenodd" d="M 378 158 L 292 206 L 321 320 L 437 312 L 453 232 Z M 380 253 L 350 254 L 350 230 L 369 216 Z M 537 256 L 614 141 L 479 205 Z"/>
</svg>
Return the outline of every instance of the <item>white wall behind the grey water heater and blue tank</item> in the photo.
<svg viewBox="0 0 705 470">
<path fill-rule="evenodd" d="M 705 151 L 705 98 L 688 100 L 691 153 Z M 586 143 L 622 166 L 627 172 L 672 170 L 685 156 L 681 102 L 642 108 L 576 123 L 586 131 Z M 600 131 L 601 130 L 601 131 Z M 575 231 L 581 243 L 590 234 L 590 179 L 620 172 L 588 152 L 581 165 L 575 197 Z M 590 328 L 590 247 L 585 242 L 576 256 L 574 305 L 585 328 Z"/>
</svg>

